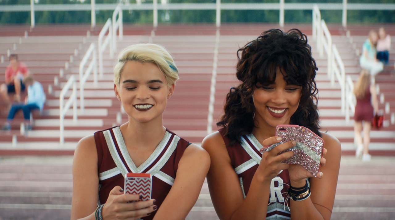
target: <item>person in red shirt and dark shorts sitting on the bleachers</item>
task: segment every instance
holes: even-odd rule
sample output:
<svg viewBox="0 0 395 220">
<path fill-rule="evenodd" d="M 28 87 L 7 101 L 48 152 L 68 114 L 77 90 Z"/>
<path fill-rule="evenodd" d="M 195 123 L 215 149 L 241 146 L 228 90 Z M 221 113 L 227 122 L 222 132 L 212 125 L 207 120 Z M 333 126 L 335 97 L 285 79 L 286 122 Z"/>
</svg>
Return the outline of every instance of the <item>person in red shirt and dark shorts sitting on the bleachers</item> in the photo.
<svg viewBox="0 0 395 220">
<path fill-rule="evenodd" d="M 9 65 L 6 69 L 6 82 L 0 86 L 0 94 L 8 104 L 10 104 L 8 97 L 9 93 L 15 93 L 14 101 L 21 101 L 21 92 L 25 90 L 23 78 L 28 74 L 28 68 L 23 62 L 18 60 L 18 55 L 9 55 Z"/>
</svg>

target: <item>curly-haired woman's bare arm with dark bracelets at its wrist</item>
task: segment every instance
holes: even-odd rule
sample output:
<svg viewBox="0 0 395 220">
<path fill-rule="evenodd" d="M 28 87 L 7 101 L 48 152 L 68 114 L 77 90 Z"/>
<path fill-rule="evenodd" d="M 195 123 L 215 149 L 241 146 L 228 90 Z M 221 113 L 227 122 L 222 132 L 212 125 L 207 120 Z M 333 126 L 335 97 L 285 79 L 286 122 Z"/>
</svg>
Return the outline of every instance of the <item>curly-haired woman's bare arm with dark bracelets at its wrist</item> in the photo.
<svg viewBox="0 0 395 220">
<path fill-rule="evenodd" d="M 324 173 L 321 179 L 310 178 L 310 197 L 303 201 L 293 201 L 291 199 L 292 219 L 325 219 L 331 218 L 333 202 L 335 200 L 337 179 L 340 168 L 340 142 L 335 137 L 322 133 L 327 153 L 325 153 L 325 166 L 320 172 Z M 290 174 L 291 175 L 291 174 Z M 291 185 L 293 185 L 291 179 Z"/>
</svg>

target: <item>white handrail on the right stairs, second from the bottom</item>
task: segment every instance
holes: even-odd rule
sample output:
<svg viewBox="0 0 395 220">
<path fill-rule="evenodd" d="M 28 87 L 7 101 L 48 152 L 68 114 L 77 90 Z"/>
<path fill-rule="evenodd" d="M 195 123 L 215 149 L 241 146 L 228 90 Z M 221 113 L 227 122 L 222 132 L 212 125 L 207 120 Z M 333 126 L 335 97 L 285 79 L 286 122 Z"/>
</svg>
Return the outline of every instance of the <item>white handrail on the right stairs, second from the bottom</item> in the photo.
<svg viewBox="0 0 395 220">
<path fill-rule="evenodd" d="M 344 69 L 344 63 L 342 58 L 340 57 L 339 51 L 336 48 L 336 45 L 332 45 L 332 59 L 331 59 L 331 85 L 335 84 L 335 76 L 337 78 L 337 82 L 340 85 L 340 100 L 341 100 L 341 110 L 344 113 L 346 108 L 346 91 L 345 91 L 345 83 L 346 83 L 346 71 Z"/>
</svg>

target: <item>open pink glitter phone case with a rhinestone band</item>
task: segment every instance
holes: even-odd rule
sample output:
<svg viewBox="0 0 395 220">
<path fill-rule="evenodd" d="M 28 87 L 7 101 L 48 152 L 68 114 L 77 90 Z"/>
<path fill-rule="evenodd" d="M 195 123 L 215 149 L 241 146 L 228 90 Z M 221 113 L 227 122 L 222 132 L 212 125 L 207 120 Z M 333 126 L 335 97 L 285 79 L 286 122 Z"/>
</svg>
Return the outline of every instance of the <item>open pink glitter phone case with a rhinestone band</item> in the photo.
<svg viewBox="0 0 395 220">
<path fill-rule="evenodd" d="M 280 152 L 293 151 L 294 153 L 292 157 L 282 162 L 286 164 L 299 164 L 305 168 L 307 172 L 317 177 L 317 173 L 320 172 L 321 167 L 320 160 L 322 157 L 324 140 L 303 126 L 278 125 L 276 128 L 276 136 L 282 138 L 281 142 L 269 147 L 263 147 L 260 152 L 270 151 L 279 144 L 295 140 L 295 146 Z"/>
</svg>

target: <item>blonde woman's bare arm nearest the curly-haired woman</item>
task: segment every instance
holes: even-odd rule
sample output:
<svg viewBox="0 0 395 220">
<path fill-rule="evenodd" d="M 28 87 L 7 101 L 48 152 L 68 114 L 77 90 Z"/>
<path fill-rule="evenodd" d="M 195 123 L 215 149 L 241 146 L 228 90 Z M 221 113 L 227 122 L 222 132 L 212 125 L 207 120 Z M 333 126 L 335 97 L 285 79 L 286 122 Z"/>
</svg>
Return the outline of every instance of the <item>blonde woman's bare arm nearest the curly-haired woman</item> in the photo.
<svg viewBox="0 0 395 220">
<path fill-rule="evenodd" d="M 195 144 L 189 145 L 178 164 L 174 184 L 154 219 L 185 219 L 198 199 L 209 166 L 209 154 Z"/>
</svg>

